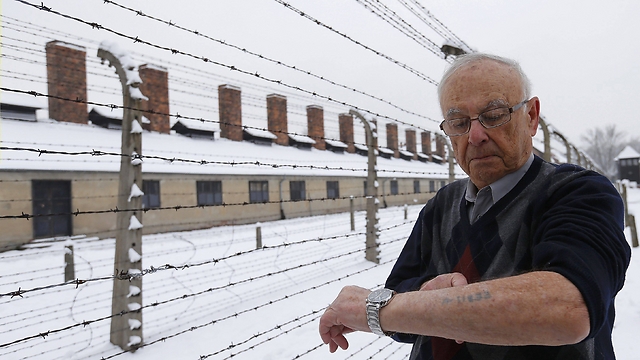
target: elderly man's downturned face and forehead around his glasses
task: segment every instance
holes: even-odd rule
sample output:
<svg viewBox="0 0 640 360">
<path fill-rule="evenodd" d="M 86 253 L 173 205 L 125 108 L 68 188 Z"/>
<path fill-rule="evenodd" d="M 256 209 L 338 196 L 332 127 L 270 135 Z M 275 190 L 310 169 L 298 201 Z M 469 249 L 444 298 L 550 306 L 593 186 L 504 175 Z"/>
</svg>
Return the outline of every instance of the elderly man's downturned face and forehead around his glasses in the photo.
<svg viewBox="0 0 640 360">
<path fill-rule="evenodd" d="M 525 100 L 517 72 L 491 60 L 468 64 L 445 83 L 440 104 L 445 119 L 476 118 L 496 107 L 512 107 Z M 471 122 L 469 133 L 451 137 L 458 164 L 471 181 L 483 188 L 519 169 L 529 158 L 531 137 L 538 129 L 540 102 L 532 98 L 511 114 L 511 121 L 485 129 Z"/>
</svg>

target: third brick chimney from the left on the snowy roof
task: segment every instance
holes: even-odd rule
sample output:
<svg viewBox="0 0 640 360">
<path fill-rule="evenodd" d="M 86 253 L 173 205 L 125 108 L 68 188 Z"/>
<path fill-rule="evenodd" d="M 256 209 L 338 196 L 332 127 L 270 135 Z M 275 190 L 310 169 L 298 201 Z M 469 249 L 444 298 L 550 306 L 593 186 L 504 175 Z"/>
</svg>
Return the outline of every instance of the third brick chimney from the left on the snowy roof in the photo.
<svg viewBox="0 0 640 360">
<path fill-rule="evenodd" d="M 233 85 L 218 86 L 218 112 L 220 137 L 242 141 L 242 99 L 240 88 Z"/>
</svg>

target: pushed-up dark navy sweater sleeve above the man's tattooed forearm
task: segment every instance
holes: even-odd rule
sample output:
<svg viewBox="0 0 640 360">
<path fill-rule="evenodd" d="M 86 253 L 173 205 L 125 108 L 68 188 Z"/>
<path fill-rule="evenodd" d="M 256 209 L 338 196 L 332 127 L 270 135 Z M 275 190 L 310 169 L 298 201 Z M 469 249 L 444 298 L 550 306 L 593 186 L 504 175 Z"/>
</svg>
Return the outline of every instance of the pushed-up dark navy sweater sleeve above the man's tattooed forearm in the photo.
<svg viewBox="0 0 640 360">
<path fill-rule="evenodd" d="M 580 290 L 589 310 L 588 337 L 594 337 L 613 319 L 608 312 L 631 256 L 620 195 L 608 179 L 586 172 L 555 190 L 543 214 L 534 235 L 533 267 L 560 273 Z"/>
</svg>

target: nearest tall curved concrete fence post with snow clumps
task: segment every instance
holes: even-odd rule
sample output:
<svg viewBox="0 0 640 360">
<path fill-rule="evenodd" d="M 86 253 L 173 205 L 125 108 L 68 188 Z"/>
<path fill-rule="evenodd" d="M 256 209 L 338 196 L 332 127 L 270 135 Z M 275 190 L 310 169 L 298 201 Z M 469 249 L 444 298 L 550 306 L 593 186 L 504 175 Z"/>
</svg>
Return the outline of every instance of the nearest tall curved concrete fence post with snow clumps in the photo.
<svg viewBox="0 0 640 360">
<path fill-rule="evenodd" d="M 122 154 L 116 217 L 111 343 L 134 352 L 142 344 L 142 83 L 138 64 L 113 43 L 103 42 L 98 57 L 115 67 L 122 84 Z M 131 211 L 127 211 L 131 210 Z"/>
</svg>

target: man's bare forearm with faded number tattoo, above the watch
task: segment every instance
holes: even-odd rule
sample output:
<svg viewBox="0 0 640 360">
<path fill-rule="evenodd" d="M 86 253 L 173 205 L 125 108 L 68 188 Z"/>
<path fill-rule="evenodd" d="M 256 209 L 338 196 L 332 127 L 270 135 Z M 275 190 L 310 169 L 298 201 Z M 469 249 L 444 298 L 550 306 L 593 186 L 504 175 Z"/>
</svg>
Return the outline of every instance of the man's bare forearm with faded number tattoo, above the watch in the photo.
<svg viewBox="0 0 640 360">
<path fill-rule="evenodd" d="M 385 331 L 493 345 L 564 345 L 589 334 L 578 289 L 544 271 L 397 294 L 380 317 Z"/>
</svg>

